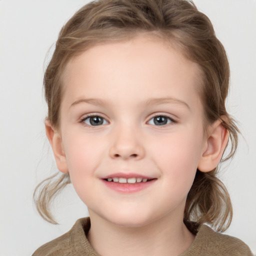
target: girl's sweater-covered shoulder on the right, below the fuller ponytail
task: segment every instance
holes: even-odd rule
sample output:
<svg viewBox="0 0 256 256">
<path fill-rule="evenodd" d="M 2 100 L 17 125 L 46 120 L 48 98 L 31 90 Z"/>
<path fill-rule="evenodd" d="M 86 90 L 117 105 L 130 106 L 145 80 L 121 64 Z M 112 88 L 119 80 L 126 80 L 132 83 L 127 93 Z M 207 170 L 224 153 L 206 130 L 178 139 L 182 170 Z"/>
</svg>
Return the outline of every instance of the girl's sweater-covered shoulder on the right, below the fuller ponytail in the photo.
<svg viewBox="0 0 256 256">
<path fill-rule="evenodd" d="M 201 225 L 193 243 L 181 255 L 252 256 L 252 252 L 240 239 L 215 232 L 207 225 Z"/>
</svg>

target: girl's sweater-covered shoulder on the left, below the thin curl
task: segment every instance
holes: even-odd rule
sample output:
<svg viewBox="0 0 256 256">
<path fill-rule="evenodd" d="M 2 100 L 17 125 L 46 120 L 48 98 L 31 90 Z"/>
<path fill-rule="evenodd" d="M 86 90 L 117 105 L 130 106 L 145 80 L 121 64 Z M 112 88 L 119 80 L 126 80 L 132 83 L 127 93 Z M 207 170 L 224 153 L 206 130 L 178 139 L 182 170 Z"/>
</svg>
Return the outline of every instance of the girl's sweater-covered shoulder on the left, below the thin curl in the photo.
<svg viewBox="0 0 256 256">
<path fill-rule="evenodd" d="M 89 227 L 88 217 L 78 219 L 68 232 L 43 244 L 32 256 L 98 255 L 86 238 Z"/>
</svg>

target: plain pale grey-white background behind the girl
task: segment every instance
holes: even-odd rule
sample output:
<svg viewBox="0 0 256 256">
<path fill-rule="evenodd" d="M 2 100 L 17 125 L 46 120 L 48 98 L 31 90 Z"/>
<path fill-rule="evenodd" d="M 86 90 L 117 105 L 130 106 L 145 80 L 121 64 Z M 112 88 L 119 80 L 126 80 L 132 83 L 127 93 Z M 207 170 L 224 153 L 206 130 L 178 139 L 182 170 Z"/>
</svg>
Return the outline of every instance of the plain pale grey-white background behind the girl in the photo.
<svg viewBox="0 0 256 256">
<path fill-rule="evenodd" d="M 55 171 L 44 134 L 45 55 L 65 21 L 86 0 L 0 0 L 0 255 L 31 255 L 87 215 L 72 187 L 54 205 L 59 225 L 32 205 L 35 185 Z M 227 234 L 256 253 L 256 1 L 195 0 L 211 19 L 230 61 L 227 108 L 239 120 L 233 161 L 220 173 L 234 207 Z M 50 53 L 49 53 L 50 54 Z M 48 54 L 48 55 L 49 55 Z"/>
</svg>

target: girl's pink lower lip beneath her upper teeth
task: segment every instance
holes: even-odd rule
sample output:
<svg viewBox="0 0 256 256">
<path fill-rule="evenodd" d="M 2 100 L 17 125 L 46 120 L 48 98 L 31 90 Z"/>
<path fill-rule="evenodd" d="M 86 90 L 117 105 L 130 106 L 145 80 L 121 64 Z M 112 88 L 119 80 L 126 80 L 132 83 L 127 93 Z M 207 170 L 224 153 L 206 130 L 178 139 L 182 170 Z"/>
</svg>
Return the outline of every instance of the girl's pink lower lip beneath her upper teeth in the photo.
<svg viewBox="0 0 256 256">
<path fill-rule="evenodd" d="M 138 182 L 138 183 L 118 183 L 118 182 L 106 181 L 106 180 L 102 179 L 102 181 L 104 182 L 104 184 L 107 187 L 109 187 L 117 192 L 121 192 L 121 193 L 138 192 L 138 191 L 143 190 L 143 189 L 149 187 L 150 185 L 152 185 L 155 180 L 156 179 L 151 179 L 146 182 Z"/>
</svg>

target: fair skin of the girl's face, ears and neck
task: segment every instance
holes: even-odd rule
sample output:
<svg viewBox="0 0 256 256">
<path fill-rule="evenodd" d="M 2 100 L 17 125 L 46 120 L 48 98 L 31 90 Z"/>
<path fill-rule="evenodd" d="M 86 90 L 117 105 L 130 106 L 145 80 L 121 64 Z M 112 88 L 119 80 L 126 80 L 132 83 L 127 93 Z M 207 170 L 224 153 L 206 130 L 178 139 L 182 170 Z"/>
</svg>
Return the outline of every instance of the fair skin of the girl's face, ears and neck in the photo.
<svg viewBox="0 0 256 256">
<path fill-rule="evenodd" d="M 199 84 L 197 64 L 154 37 L 93 46 L 68 62 L 60 127 L 45 127 L 99 254 L 178 255 L 191 245 L 186 195 L 228 137 L 220 121 L 205 136 Z"/>
</svg>

